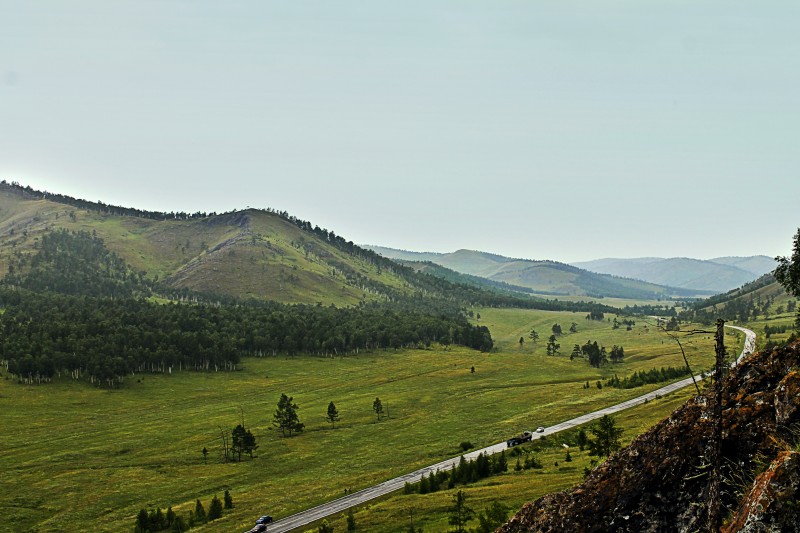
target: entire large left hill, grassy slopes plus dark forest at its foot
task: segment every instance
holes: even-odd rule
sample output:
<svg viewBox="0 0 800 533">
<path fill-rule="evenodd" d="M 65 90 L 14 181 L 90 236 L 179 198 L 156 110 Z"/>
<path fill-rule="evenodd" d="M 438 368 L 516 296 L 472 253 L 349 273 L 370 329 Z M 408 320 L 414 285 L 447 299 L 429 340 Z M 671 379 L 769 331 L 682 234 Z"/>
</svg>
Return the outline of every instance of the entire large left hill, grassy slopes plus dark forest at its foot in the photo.
<svg viewBox="0 0 800 533">
<path fill-rule="evenodd" d="M 0 184 L 0 361 L 21 382 L 118 386 L 245 356 L 432 343 L 486 351 L 491 333 L 465 306 L 609 309 L 452 283 L 286 213 L 141 216 L 49 197 Z"/>
</svg>

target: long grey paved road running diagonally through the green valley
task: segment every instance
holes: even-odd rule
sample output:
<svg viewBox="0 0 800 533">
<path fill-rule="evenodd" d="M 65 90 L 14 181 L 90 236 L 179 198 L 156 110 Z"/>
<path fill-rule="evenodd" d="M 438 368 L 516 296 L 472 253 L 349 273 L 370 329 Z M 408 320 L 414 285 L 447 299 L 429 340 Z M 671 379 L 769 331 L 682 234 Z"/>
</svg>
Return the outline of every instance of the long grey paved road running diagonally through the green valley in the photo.
<svg viewBox="0 0 800 533">
<path fill-rule="evenodd" d="M 755 350 L 756 334 L 750 331 L 749 329 L 740 328 L 738 326 L 725 326 L 725 327 L 737 329 L 745 334 L 744 349 L 737 358 L 736 362 L 733 363 L 736 364 L 739 362 L 739 360 L 742 359 L 742 357 L 752 353 L 753 350 Z M 695 378 L 699 381 L 703 379 L 703 376 L 695 376 Z M 628 400 L 627 402 L 618 403 L 617 405 L 612 405 L 611 407 L 606 407 L 605 409 L 600 409 L 599 411 L 587 413 L 577 418 L 573 418 L 572 420 L 567 420 L 566 422 L 561 422 L 560 424 L 556 424 L 554 426 L 545 428 L 545 431 L 543 433 L 534 433 L 533 438 L 534 440 L 539 439 L 545 435 L 552 435 L 554 433 L 558 433 L 566 429 L 571 429 L 576 426 L 580 426 L 587 422 L 591 422 L 592 420 L 601 418 L 604 415 L 610 415 L 637 405 L 641 405 L 650 400 L 654 400 L 658 396 L 664 396 L 666 394 L 669 394 L 670 392 L 674 392 L 684 387 L 688 387 L 691 384 L 692 384 L 692 378 L 686 378 L 681 381 L 676 381 L 675 383 L 670 383 L 665 387 L 661 387 L 660 389 L 654 390 L 647 394 L 643 394 L 642 396 L 638 396 L 636 398 Z M 494 444 L 492 446 L 487 446 L 486 448 L 482 448 L 480 450 L 475 450 L 468 454 L 464 454 L 464 457 L 467 460 L 473 460 L 477 458 L 478 455 L 480 455 L 481 453 L 492 455 L 495 453 L 500 453 L 506 448 L 507 448 L 506 443 L 501 442 L 498 444 Z M 436 463 L 435 465 L 426 466 L 425 468 L 421 468 L 419 470 L 411 472 L 410 474 L 405 474 L 403 476 L 396 477 L 388 481 L 384 481 L 383 483 L 380 483 L 378 485 L 368 487 L 358 492 L 353 492 L 352 494 L 348 494 L 342 498 L 338 498 L 331 502 L 318 505 L 317 507 L 312 507 L 311 509 L 301 511 L 291 516 L 287 516 L 286 518 L 282 518 L 270 524 L 269 533 L 285 533 L 302 526 L 307 526 L 308 524 L 311 524 L 312 522 L 315 522 L 317 520 L 321 520 L 326 516 L 346 511 L 350 507 L 361 505 L 365 502 L 368 502 L 369 500 L 373 500 L 375 498 L 379 498 L 381 496 L 389 494 L 390 492 L 400 490 L 406 483 L 416 483 L 422 478 L 423 475 L 427 476 L 431 472 L 436 472 L 437 470 L 449 470 L 454 466 L 456 466 L 460 461 L 460 459 L 461 459 L 460 456 L 454 457 L 452 459 L 447 459 L 446 461 Z"/>
</svg>

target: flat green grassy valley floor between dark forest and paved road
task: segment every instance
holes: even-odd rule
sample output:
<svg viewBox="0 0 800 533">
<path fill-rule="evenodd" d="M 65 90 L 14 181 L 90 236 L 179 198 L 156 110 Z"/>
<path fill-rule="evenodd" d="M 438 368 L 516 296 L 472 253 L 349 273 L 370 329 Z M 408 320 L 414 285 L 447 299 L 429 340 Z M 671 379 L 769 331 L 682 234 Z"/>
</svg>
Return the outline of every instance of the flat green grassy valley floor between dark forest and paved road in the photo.
<svg viewBox="0 0 800 533">
<path fill-rule="evenodd" d="M 626 331 L 573 313 L 479 312 L 496 352 L 437 348 L 336 359 L 247 359 L 235 373 L 139 375 L 114 391 L 68 381 L 23 387 L 0 378 L 6 428 L 0 436 L 0 531 L 127 529 L 142 507 L 171 505 L 185 513 L 196 498 L 207 506 L 225 489 L 235 509 L 196 530 L 244 530 L 260 514 L 285 516 L 345 488 L 456 456 L 462 441 L 485 446 L 657 387 L 594 386 L 614 372 L 624 376 L 682 364 L 671 340 L 638 322 Z M 626 361 L 598 370 L 567 355 L 543 355 L 550 326 L 558 322 L 566 332 L 571 321 L 578 333 L 559 338 L 562 354 L 574 343 L 596 339 L 608 348 L 623 345 Z M 542 339 L 536 348 L 526 342 L 520 349 L 519 337 L 527 340 L 531 328 Z M 736 338 L 729 344 L 736 348 Z M 684 346 L 693 366 L 710 366 L 710 335 L 687 339 Z M 589 389 L 583 388 L 586 381 Z M 281 393 L 300 406 L 306 431 L 299 436 L 282 438 L 271 428 Z M 390 415 L 377 423 L 375 397 Z M 335 429 L 324 420 L 330 401 L 342 418 Z M 254 460 L 224 464 L 220 427 L 235 426 L 242 410 L 260 448 Z M 207 465 L 203 447 L 210 450 Z M 581 460 L 576 457 L 575 470 L 564 471 L 563 479 L 561 470 L 549 467 L 532 475 L 552 479 L 542 487 L 563 488 L 580 477 Z M 486 480 L 486 494 L 500 491 L 491 485 L 498 482 L 506 483 Z M 476 508 L 481 498 L 475 497 Z"/>
</svg>

